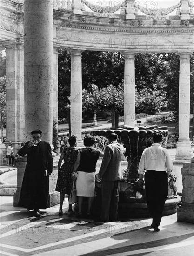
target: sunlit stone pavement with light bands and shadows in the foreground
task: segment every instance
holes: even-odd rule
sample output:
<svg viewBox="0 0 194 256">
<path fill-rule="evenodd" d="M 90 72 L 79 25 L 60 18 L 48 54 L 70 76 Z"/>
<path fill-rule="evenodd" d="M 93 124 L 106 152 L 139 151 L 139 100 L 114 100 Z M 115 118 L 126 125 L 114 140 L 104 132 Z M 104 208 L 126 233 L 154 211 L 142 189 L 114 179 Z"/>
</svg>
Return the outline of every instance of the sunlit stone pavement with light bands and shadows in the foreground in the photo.
<svg viewBox="0 0 194 256">
<path fill-rule="evenodd" d="M 67 199 L 63 212 L 67 211 Z M 160 232 L 151 219 L 123 219 L 99 223 L 64 214 L 59 205 L 40 218 L 20 207 L 13 197 L 0 197 L 1 256 L 193 256 L 194 225 L 164 216 Z"/>
</svg>

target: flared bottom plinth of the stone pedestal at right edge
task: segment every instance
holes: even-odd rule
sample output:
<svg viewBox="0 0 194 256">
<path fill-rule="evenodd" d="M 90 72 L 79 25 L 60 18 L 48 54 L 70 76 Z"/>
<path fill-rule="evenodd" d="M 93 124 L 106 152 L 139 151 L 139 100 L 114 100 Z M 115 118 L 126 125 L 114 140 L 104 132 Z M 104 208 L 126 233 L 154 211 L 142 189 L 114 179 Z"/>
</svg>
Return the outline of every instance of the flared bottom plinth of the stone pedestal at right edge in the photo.
<svg viewBox="0 0 194 256">
<path fill-rule="evenodd" d="M 181 204 L 177 211 L 177 221 L 194 223 L 194 204 Z"/>
</svg>

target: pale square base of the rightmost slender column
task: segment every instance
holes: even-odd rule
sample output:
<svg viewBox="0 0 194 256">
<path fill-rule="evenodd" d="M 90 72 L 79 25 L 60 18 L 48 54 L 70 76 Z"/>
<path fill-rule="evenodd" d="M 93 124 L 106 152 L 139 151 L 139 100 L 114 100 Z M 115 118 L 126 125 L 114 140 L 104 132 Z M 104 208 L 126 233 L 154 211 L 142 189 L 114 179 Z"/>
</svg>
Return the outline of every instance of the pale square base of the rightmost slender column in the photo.
<svg viewBox="0 0 194 256">
<path fill-rule="evenodd" d="M 178 141 L 176 144 L 176 160 L 190 160 L 193 157 L 191 141 Z"/>
</svg>

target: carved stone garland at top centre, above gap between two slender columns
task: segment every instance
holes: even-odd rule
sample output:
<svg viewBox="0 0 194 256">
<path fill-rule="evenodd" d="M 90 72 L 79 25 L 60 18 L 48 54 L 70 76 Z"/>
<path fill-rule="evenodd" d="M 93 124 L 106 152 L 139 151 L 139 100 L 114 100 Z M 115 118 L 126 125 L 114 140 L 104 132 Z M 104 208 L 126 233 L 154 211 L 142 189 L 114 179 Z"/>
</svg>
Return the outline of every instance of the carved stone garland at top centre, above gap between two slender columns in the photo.
<svg viewBox="0 0 194 256">
<path fill-rule="evenodd" d="M 122 3 L 118 3 L 114 7 L 111 7 L 111 6 L 106 6 L 106 7 L 96 6 L 96 5 L 93 5 L 93 4 L 90 4 L 89 2 L 87 2 L 87 0 L 81 0 L 81 1 L 82 1 L 83 4 L 85 4 L 94 13 L 115 13 L 120 8 L 122 8 L 123 6 L 126 6 L 126 0 L 123 1 Z"/>
</svg>

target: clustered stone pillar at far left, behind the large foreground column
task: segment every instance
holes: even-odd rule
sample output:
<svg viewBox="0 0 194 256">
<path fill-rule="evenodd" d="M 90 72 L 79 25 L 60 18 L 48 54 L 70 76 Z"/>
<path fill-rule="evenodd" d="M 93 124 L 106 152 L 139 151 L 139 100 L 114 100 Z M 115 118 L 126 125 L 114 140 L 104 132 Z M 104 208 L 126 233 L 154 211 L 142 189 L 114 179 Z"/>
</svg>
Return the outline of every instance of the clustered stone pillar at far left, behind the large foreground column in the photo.
<svg viewBox="0 0 194 256">
<path fill-rule="evenodd" d="M 18 148 L 24 136 L 24 45 L 8 41 L 6 47 L 6 141 Z"/>
</svg>

